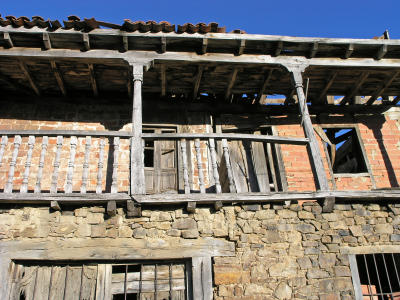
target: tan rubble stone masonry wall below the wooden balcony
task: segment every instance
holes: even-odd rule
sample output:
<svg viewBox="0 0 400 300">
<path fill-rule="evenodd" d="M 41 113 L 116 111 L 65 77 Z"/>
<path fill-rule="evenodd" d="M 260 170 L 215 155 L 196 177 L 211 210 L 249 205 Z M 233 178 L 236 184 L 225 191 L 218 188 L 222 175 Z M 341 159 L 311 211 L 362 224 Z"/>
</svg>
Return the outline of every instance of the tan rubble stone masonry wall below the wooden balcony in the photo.
<svg viewBox="0 0 400 300">
<path fill-rule="evenodd" d="M 126 218 L 122 208 L 107 217 L 103 207 L 0 213 L 0 243 L 108 237 L 151 244 L 209 236 L 233 241 L 236 252 L 213 259 L 214 299 L 353 299 L 345 249 L 400 247 L 400 205 L 337 204 L 332 213 L 316 202 L 200 207 L 193 214 L 144 208 L 138 218 Z"/>
</svg>

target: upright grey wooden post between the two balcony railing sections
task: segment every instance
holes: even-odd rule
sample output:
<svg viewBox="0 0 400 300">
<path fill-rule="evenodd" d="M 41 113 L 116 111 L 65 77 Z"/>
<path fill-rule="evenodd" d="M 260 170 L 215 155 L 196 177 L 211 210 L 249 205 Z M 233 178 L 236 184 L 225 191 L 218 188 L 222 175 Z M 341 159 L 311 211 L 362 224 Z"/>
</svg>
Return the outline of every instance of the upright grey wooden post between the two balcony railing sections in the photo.
<svg viewBox="0 0 400 300">
<path fill-rule="evenodd" d="M 144 153 L 142 145 L 142 83 L 143 65 L 132 64 L 133 107 L 131 140 L 131 194 L 145 194 Z"/>
</svg>

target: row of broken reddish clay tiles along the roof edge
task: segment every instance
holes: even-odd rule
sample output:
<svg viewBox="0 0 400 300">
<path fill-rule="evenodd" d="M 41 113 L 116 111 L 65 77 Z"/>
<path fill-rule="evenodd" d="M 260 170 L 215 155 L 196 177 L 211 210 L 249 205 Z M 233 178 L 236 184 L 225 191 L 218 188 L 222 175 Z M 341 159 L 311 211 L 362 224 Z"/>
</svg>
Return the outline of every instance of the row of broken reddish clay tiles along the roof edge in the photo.
<svg viewBox="0 0 400 300">
<path fill-rule="evenodd" d="M 16 28 L 25 27 L 25 28 L 32 28 L 37 26 L 39 28 L 46 28 L 49 31 L 54 31 L 59 28 L 63 29 L 75 29 L 79 31 L 89 32 L 96 28 L 112 28 L 112 29 L 119 29 L 122 31 L 127 32 L 175 32 L 175 33 L 200 33 L 206 34 L 209 32 L 213 33 L 225 33 L 225 27 L 219 27 L 218 23 L 185 23 L 183 25 L 171 24 L 166 21 L 155 22 L 155 21 L 131 21 L 129 19 L 125 19 L 122 25 L 102 22 L 98 21 L 95 18 L 91 19 L 83 19 L 81 20 L 77 16 L 69 16 L 68 20 L 63 21 L 64 26 L 58 20 L 44 20 L 40 16 L 33 16 L 31 19 L 28 17 L 14 17 L 14 16 L 6 16 L 2 18 L 0 15 L 0 26 L 13 26 Z M 245 33 L 242 30 L 234 30 L 233 33 Z"/>
</svg>

